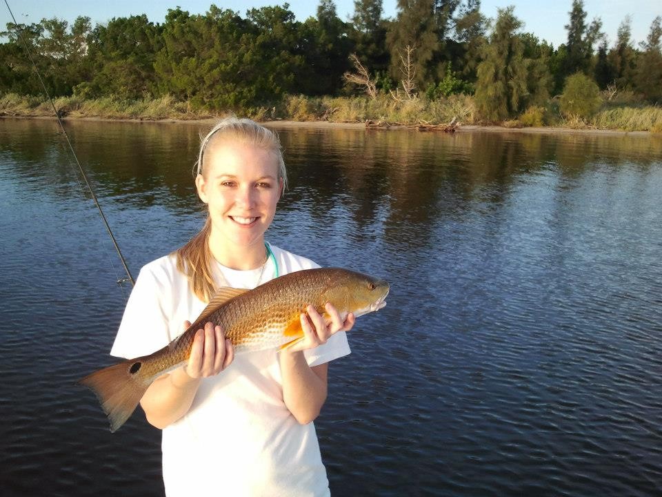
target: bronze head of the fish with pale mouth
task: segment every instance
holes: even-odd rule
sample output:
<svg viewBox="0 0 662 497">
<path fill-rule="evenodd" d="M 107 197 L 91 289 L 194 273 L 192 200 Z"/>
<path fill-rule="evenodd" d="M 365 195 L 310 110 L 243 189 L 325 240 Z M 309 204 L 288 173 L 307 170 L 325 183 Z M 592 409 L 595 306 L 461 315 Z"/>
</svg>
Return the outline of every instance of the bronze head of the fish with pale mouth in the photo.
<svg viewBox="0 0 662 497">
<path fill-rule="evenodd" d="M 386 305 L 389 285 L 384 280 L 347 269 L 339 270 L 332 280 L 335 281 L 325 291 L 325 299 L 345 315 L 353 313 L 358 317 Z"/>
</svg>

